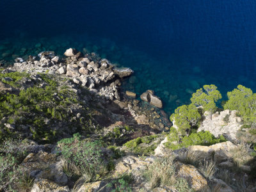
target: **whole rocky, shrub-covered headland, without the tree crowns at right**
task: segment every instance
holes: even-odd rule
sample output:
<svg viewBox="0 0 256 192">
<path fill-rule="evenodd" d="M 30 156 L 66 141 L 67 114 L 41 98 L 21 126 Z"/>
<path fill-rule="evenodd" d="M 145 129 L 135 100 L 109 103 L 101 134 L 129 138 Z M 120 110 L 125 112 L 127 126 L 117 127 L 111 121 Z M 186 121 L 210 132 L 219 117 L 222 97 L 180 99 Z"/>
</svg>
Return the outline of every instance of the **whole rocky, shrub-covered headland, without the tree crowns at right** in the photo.
<svg viewBox="0 0 256 192">
<path fill-rule="evenodd" d="M 154 91 L 123 90 L 132 69 L 64 55 L 1 68 L 0 191 L 256 191 L 237 111 L 205 111 L 181 138 Z"/>
</svg>

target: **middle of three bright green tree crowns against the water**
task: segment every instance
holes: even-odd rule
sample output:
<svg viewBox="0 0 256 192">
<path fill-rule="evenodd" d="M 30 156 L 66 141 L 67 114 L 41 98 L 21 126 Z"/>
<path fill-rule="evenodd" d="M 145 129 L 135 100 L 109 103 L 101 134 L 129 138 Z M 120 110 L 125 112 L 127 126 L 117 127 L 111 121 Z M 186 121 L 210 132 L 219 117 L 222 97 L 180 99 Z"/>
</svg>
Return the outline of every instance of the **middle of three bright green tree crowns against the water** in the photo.
<svg viewBox="0 0 256 192">
<path fill-rule="evenodd" d="M 216 102 L 221 98 L 221 93 L 214 84 L 206 84 L 204 85 L 204 90 L 202 88 L 196 90 L 190 100 L 196 107 L 202 106 L 204 111 L 213 113 L 216 111 Z"/>
</svg>

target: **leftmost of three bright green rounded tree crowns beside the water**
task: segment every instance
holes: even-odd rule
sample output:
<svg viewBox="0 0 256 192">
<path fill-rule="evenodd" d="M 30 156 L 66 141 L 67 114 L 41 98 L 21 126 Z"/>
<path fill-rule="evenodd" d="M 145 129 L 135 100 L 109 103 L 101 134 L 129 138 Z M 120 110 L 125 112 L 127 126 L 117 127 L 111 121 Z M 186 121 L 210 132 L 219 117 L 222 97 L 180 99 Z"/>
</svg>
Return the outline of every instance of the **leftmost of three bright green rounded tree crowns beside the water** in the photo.
<svg viewBox="0 0 256 192">
<path fill-rule="evenodd" d="M 193 104 L 180 106 L 170 116 L 170 120 L 178 127 L 182 135 L 189 133 L 191 127 L 198 125 L 200 118 L 198 109 Z"/>
</svg>

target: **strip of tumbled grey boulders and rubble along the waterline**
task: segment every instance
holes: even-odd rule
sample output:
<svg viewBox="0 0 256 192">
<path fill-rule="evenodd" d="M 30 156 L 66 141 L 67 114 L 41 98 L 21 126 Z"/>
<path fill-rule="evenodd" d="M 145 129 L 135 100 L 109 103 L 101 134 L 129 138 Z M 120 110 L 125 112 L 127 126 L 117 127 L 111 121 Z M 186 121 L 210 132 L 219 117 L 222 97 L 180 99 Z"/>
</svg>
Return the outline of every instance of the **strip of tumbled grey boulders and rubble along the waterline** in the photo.
<svg viewBox="0 0 256 192">
<path fill-rule="evenodd" d="M 136 99 L 136 94 L 123 92 L 120 88 L 122 79 L 131 76 L 134 72 L 131 68 L 116 68 L 106 59 L 98 58 L 94 53 L 85 54 L 76 49 L 67 49 L 66 58 L 55 56 L 53 51 L 40 52 L 38 57 L 29 56 L 27 61 L 17 58 L 9 70 L 19 72 L 47 72 L 66 76 L 77 84 L 84 86 L 91 93 L 99 95 L 106 103 L 114 102 L 121 109 L 129 111 L 138 124 L 148 124 L 153 129 L 168 130 L 171 122 L 161 108 L 163 103 L 152 90 L 143 93 L 141 100 L 148 102 L 141 104 Z M 37 59 L 38 58 L 38 59 Z M 150 97 L 147 93 L 150 92 Z M 146 95 L 145 95 L 146 94 Z M 152 120 L 153 119 L 153 120 Z"/>
</svg>

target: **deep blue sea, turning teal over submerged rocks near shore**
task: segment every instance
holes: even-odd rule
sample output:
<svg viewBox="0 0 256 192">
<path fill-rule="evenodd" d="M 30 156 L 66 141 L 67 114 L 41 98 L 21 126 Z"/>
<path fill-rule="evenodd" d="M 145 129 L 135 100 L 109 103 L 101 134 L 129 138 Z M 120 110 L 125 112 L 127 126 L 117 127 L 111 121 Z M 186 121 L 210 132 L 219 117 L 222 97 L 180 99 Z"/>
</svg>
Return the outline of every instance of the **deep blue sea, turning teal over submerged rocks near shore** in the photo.
<svg viewBox="0 0 256 192">
<path fill-rule="evenodd" d="M 256 1 L 0 1 L 0 62 L 69 47 L 131 67 L 125 88 L 171 112 L 204 84 L 256 90 Z"/>
</svg>

